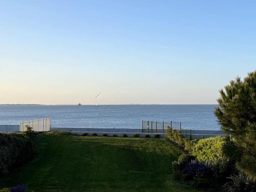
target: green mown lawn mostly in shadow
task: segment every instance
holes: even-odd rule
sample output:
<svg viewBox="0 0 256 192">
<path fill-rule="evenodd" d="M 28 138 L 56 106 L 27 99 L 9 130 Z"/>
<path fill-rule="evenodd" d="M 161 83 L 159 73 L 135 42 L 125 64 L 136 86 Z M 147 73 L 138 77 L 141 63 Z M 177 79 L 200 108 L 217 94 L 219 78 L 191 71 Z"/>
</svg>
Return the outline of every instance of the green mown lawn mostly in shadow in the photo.
<svg viewBox="0 0 256 192">
<path fill-rule="evenodd" d="M 189 191 L 172 180 L 181 153 L 166 139 L 54 136 L 34 138 L 35 158 L 0 180 L 40 191 Z"/>
</svg>

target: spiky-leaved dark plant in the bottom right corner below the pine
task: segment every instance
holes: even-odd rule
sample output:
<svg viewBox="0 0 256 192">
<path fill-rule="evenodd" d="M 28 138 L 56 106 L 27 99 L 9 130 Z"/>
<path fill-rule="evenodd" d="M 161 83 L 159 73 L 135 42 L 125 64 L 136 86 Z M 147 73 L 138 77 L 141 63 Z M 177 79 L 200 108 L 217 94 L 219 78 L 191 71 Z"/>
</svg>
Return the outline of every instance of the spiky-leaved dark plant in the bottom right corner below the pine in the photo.
<svg viewBox="0 0 256 192">
<path fill-rule="evenodd" d="M 254 192 L 256 191 L 256 181 L 249 175 L 239 172 L 238 175 L 232 175 L 228 178 L 223 191 L 226 192 Z"/>
</svg>

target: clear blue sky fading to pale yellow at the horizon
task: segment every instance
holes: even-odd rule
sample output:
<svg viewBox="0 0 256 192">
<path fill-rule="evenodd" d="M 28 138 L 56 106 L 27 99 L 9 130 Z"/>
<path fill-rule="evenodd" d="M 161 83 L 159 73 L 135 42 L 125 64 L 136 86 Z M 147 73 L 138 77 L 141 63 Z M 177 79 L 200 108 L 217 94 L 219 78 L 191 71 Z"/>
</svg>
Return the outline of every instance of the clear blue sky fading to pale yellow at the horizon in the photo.
<svg viewBox="0 0 256 192">
<path fill-rule="evenodd" d="M 0 0 L 0 103 L 216 104 L 256 69 L 256 1 Z"/>
</svg>

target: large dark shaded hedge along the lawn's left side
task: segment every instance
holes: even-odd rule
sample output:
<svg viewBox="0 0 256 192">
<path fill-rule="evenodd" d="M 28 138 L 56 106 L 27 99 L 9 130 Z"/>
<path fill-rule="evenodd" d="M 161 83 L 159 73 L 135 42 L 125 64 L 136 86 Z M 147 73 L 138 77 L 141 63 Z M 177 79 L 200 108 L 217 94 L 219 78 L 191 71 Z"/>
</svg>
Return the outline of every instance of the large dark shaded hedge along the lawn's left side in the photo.
<svg viewBox="0 0 256 192">
<path fill-rule="evenodd" d="M 0 175 L 33 157 L 32 142 L 24 134 L 0 133 Z"/>
</svg>

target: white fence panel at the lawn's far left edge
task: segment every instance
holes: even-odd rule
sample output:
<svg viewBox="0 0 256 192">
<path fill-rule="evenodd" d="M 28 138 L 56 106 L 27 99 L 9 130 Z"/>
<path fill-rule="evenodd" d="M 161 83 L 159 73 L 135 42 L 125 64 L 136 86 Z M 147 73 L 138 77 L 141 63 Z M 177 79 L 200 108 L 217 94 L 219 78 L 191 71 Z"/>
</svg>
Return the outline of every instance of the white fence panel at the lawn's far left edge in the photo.
<svg viewBox="0 0 256 192">
<path fill-rule="evenodd" d="M 26 125 L 33 127 L 36 132 L 50 131 L 52 127 L 51 119 L 35 119 L 29 121 L 22 121 L 19 123 L 19 131 L 27 131 Z"/>
</svg>

